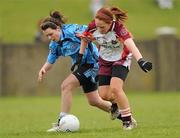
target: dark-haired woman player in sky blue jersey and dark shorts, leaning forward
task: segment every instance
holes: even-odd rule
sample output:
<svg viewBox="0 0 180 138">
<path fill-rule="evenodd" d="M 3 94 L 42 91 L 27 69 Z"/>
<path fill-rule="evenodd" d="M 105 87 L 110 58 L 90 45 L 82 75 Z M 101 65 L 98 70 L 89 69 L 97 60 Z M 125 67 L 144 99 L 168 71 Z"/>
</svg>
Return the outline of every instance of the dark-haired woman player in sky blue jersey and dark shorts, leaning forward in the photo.
<svg viewBox="0 0 180 138">
<path fill-rule="evenodd" d="M 76 33 L 84 32 L 87 26 L 65 24 L 64 16 L 55 11 L 43 20 L 40 27 L 50 40 L 50 51 L 46 63 L 39 71 L 38 80 L 40 82 L 43 80 L 44 75 L 60 56 L 70 56 L 73 63 L 72 73 L 61 84 L 61 112 L 58 121 L 70 112 L 72 92 L 80 86 L 82 86 L 90 105 L 109 112 L 112 104 L 102 100 L 97 91 L 95 79 L 98 73 L 98 50 L 96 46 L 88 43 L 85 54 L 83 56 L 79 55 L 81 40 L 76 36 Z M 81 64 L 78 62 L 81 62 Z M 75 69 L 76 65 L 79 66 Z M 56 123 L 48 132 L 59 130 L 58 123 Z"/>
</svg>

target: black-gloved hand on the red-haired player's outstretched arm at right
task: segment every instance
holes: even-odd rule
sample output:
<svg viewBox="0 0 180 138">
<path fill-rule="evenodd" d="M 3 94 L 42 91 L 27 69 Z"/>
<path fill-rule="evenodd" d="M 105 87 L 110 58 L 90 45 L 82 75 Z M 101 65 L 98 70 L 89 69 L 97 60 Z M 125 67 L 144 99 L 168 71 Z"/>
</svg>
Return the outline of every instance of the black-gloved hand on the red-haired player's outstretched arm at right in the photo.
<svg viewBox="0 0 180 138">
<path fill-rule="evenodd" d="M 144 72 L 148 72 L 152 69 L 152 63 L 144 60 L 143 58 L 138 60 L 138 64 Z"/>
</svg>

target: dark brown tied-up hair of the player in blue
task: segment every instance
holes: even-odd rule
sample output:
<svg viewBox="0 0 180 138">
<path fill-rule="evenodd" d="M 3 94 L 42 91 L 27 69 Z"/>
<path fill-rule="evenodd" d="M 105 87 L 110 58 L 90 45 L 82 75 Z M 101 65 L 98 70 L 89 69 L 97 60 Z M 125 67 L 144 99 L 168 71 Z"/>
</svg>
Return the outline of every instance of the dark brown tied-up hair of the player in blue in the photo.
<svg viewBox="0 0 180 138">
<path fill-rule="evenodd" d="M 46 17 L 40 27 L 44 31 L 47 28 L 56 29 L 58 26 L 61 27 L 65 24 L 66 18 L 58 11 L 50 12 L 49 17 Z"/>
</svg>

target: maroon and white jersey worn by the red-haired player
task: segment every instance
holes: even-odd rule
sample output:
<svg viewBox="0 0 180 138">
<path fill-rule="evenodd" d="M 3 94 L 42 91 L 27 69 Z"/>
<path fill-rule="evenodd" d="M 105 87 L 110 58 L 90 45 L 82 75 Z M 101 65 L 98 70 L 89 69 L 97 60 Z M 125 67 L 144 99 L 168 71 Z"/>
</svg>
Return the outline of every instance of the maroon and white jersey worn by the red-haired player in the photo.
<svg viewBox="0 0 180 138">
<path fill-rule="evenodd" d="M 124 45 L 124 41 L 131 38 L 130 32 L 119 22 L 113 22 L 106 34 L 101 34 L 92 21 L 84 34 L 93 34 L 96 43 L 99 44 L 99 56 L 106 61 L 125 61 L 131 58 L 132 54 Z"/>
</svg>

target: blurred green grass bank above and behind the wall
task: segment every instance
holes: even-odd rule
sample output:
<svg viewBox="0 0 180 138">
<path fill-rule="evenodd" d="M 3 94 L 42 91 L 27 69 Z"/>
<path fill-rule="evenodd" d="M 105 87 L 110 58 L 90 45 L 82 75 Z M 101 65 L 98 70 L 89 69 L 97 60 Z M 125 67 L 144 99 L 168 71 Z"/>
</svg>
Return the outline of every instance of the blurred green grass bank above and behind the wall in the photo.
<svg viewBox="0 0 180 138">
<path fill-rule="evenodd" d="M 172 10 L 161 10 L 155 0 L 108 0 L 109 5 L 128 11 L 128 29 L 136 39 L 155 38 L 155 30 L 171 26 L 180 32 L 180 1 L 174 0 Z M 1 0 L 0 41 L 4 43 L 32 42 L 39 19 L 51 10 L 65 14 L 69 22 L 87 24 L 92 20 L 90 0 Z M 180 36 L 180 33 L 178 33 Z"/>
</svg>

